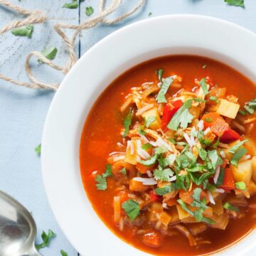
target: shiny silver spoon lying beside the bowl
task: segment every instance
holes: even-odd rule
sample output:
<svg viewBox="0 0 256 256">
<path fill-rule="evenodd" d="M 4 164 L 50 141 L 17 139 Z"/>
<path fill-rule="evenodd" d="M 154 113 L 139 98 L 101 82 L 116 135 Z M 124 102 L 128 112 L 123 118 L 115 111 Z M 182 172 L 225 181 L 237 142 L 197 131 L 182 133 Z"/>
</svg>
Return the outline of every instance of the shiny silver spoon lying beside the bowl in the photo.
<svg viewBox="0 0 256 256">
<path fill-rule="evenodd" d="M 35 248 L 36 223 L 14 198 L 0 191 L 0 255 L 42 256 Z"/>
</svg>

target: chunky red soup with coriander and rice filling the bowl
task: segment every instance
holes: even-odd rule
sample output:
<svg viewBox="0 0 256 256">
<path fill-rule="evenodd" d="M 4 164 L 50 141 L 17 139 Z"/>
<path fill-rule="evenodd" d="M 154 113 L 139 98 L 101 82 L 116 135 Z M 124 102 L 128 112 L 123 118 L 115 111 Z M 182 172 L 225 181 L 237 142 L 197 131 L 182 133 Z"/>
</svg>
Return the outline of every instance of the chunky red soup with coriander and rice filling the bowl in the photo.
<svg viewBox="0 0 256 256">
<path fill-rule="evenodd" d="M 255 96 L 243 75 L 196 56 L 156 58 L 119 76 L 90 110 L 80 142 L 96 213 L 153 255 L 201 255 L 249 233 Z"/>
</svg>

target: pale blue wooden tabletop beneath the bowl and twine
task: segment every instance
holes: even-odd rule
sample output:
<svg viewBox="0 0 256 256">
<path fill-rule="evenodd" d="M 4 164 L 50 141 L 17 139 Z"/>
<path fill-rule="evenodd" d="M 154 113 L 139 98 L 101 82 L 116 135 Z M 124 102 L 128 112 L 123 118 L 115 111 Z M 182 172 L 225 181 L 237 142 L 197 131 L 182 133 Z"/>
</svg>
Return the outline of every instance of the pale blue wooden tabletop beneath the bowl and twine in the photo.
<svg viewBox="0 0 256 256">
<path fill-rule="evenodd" d="M 85 0 L 79 9 L 63 9 L 61 6 L 71 0 L 11 0 L 27 9 L 46 11 L 48 22 L 35 25 L 32 38 L 13 36 L 5 33 L 0 36 L 0 73 L 18 80 L 28 80 L 24 72 L 26 54 L 32 50 L 43 50 L 48 46 L 58 48 L 55 62 L 62 64 L 67 58 L 67 49 L 63 41 L 53 31 L 53 24 L 64 21 L 77 24 L 83 21 L 85 6 L 93 6 L 97 11 L 98 0 Z M 117 15 L 129 9 L 138 0 L 124 0 Z M 76 42 L 78 56 L 85 53 L 97 41 L 129 23 L 164 14 L 201 14 L 223 18 L 256 32 L 256 1 L 245 0 L 246 8 L 228 6 L 224 0 L 147 0 L 146 5 L 127 20 L 113 26 L 99 25 L 90 31 L 83 31 Z M 152 15 L 149 17 L 149 12 Z M 112 14 L 113 16 L 114 14 Z M 7 22 L 21 18 L 14 12 L 0 7 L 0 27 Z M 171 28 L 170 28 L 171 31 Z M 69 34 L 71 31 L 69 31 Z M 31 62 L 37 78 L 45 82 L 60 82 L 63 75 L 51 70 L 46 65 Z M 41 250 L 43 255 L 60 255 L 60 249 L 69 256 L 78 252 L 70 245 L 61 232 L 50 210 L 41 176 L 40 157 L 34 148 L 41 142 L 43 124 L 53 92 L 30 90 L 0 81 L 0 189 L 14 196 L 23 203 L 35 218 L 38 235 L 36 242 L 41 242 L 42 230 L 53 230 L 57 237 L 49 247 Z M 61 182 L 61 181 L 60 181 Z M 85 241 L 88 242 L 88 241 Z"/>
</svg>

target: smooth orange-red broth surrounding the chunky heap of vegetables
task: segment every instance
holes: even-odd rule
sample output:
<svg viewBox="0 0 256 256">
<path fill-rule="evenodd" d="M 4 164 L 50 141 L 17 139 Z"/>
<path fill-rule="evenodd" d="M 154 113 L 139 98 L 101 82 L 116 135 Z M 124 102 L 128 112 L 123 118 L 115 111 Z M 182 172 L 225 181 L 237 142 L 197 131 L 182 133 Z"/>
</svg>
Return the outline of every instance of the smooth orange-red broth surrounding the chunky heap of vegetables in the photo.
<svg viewBox="0 0 256 256">
<path fill-rule="evenodd" d="M 205 64 L 207 65 L 206 68 L 202 68 Z M 203 238 L 214 241 L 210 245 L 190 247 L 187 238 L 178 234 L 172 237 L 166 236 L 161 247 L 154 248 L 144 245 L 142 235 L 132 235 L 132 229 L 127 227 L 121 232 L 114 224 L 113 196 L 117 191 L 114 191 L 112 179 L 110 178 L 107 181 L 107 191 L 98 191 L 95 186 L 95 178 L 92 176 L 92 172 L 97 170 L 98 174 L 102 174 L 105 171 L 106 159 L 110 152 L 120 151 L 117 142 L 122 142 L 119 131 L 123 127 L 123 117 L 119 108 L 124 102 L 124 97 L 129 93 L 131 87 L 142 85 L 144 82 L 155 81 L 155 70 L 159 68 L 164 69 L 164 77 L 174 73 L 180 75 L 183 78 L 182 85 L 186 89 L 195 86 L 193 82 L 195 78 L 200 80 L 210 75 L 214 83 L 217 83 L 220 87 L 227 87 L 229 94 L 238 95 L 241 105 L 256 95 L 256 87 L 250 80 L 227 65 L 208 58 L 175 55 L 156 58 L 137 65 L 120 75 L 107 87 L 87 116 L 80 141 L 82 182 L 97 215 L 100 216 L 108 228 L 130 245 L 154 255 L 201 255 L 215 252 L 236 242 L 254 228 L 255 219 L 252 215 L 256 213 L 256 210 L 248 210 L 247 218 L 230 220 L 225 230 L 208 228 L 203 233 Z M 174 94 L 178 90 L 171 89 L 170 91 Z M 254 127 L 252 134 L 255 132 Z M 255 138 L 250 139 L 255 141 Z M 256 203 L 255 197 L 252 197 L 250 202 Z"/>
</svg>

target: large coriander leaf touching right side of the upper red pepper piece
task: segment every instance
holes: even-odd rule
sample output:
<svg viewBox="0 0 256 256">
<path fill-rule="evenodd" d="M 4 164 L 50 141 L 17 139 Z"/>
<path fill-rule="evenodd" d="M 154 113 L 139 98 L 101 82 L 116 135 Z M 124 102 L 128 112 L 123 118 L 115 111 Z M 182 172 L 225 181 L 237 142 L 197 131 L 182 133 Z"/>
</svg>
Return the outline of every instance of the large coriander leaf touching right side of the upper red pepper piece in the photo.
<svg viewBox="0 0 256 256">
<path fill-rule="evenodd" d="M 188 123 L 191 123 L 193 115 L 188 112 L 192 105 L 192 100 L 187 100 L 183 105 L 178 109 L 178 111 L 172 117 L 171 122 L 168 124 L 168 128 L 174 131 L 178 130 L 178 126 L 182 123 L 182 128 L 186 128 Z"/>
</svg>

